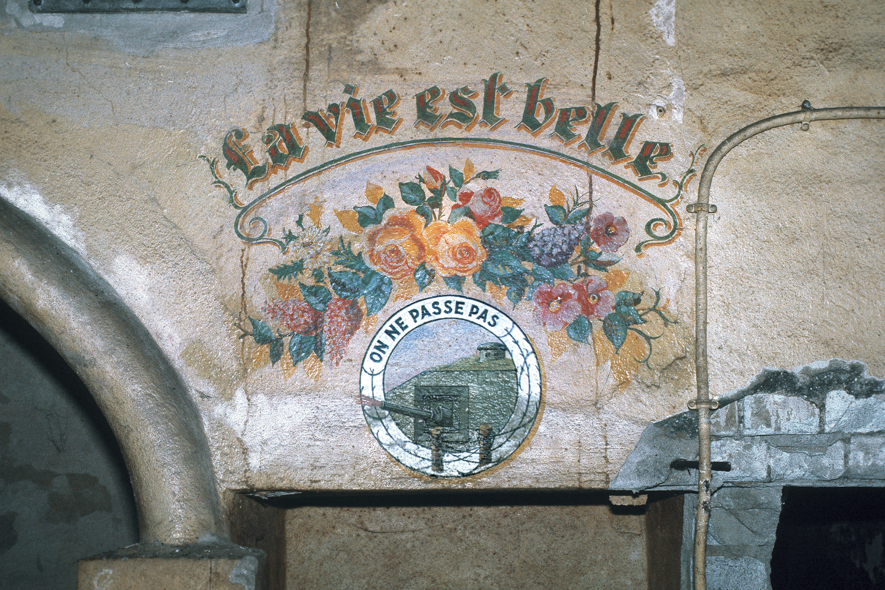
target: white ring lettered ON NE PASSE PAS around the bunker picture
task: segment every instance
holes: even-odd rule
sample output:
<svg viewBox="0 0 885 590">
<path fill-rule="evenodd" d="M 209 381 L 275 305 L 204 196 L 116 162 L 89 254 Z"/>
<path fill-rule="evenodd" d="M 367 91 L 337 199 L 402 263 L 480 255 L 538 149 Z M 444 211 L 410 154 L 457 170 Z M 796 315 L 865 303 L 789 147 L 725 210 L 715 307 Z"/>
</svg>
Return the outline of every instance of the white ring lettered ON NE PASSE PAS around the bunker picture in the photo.
<svg viewBox="0 0 885 590">
<path fill-rule="evenodd" d="M 430 477 L 468 477 L 503 462 L 527 439 L 541 408 L 541 367 L 531 341 L 509 315 L 479 299 L 437 295 L 403 307 L 375 332 L 363 357 L 360 394 L 384 401 L 384 371 L 390 353 L 406 334 L 438 320 L 464 320 L 485 328 L 507 346 L 516 368 L 516 405 L 510 420 L 496 433 L 489 463 L 480 463 L 479 450 L 443 452 L 443 471 L 434 471 L 431 450 L 409 439 L 387 410 L 364 404 L 363 414 L 381 447 L 405 467 Z"/>
</svg>

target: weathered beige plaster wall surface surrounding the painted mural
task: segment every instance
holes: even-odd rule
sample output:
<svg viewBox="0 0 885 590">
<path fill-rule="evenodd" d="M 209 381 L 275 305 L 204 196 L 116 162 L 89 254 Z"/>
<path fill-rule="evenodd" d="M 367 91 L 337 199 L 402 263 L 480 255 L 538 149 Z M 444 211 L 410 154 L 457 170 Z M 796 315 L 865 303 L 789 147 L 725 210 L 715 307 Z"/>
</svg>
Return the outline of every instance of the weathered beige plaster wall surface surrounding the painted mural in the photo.
<svg viewBox="0 0 885 590">
<path fill-rule="evenodd" d="M 256 277 L 281 257 L 235 237 L 235 211 L 197 159 L 218 157 L 229 129 L 296 121 L 339 100 L 345 82 L 366 94 L 452 88 L 498 70 L 516 94 L 548 75 L 551 96 L 589 103 L 592 95 L 650 113 L 656 133 L 691 148 L 712 148 L 804 98 L 885 102 L 877 3 L 601 3 L 598 54 L 592 4 L 257 2 L 245 16 L 125 23 L 41 23 L 19 9 L 8 0 L 0 36 L 4 198 L 81 252 L 158 341 L 200 410 L 222 489 L 435 485 L 389 462 L 352 401 L 371 330 L 319 382 L 301 369 L 285 377 L 256 367 L 256 347 L 238 338 L 235 323 L 267 296 Z M 784 128 L 720 167 L 710 237 L 713 392 L 766 366 L 834 356 L 881 375 L 883 134 L 866 121 Z M 310 162 L 341 153 L 321 148 L 313 130 L 303 135 Z M 522 172 L 535 186 L 546 169 Z M 353 205 L 324 190 L 328 207 Z M 635 266 L 637 276 L 657 273 L 655 288 L 681 322 L 661 341 L 666 354 L 624 384 L 590 355 L 553 360 L 535 332 L 546 386 L 535 438 L 506 469 L 466 487 L 605 487 L 645 426 L 694 396 L 685 223 L 670 250 Z M 19 287 L 30 297 L 50 296 L 28 284 Z"/>
</svg>

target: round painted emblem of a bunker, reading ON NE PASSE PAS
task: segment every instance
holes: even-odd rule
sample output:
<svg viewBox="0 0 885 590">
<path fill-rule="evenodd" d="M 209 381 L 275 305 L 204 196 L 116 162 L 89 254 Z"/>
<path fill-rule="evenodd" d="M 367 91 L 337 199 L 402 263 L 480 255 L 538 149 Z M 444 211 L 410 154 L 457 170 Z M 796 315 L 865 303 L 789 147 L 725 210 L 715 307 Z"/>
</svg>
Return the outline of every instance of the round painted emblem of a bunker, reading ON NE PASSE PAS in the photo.
<svg viewBox="0 0 885 590">
<path fill-rule="evenodd" d="M 460 295 L 391 315 L 366 350 L 359 389 L 375 439 L 430 477 L 503 462 L 526 441 L 542 398 L 525 333 L 496 307 Z"/>
</svg>

